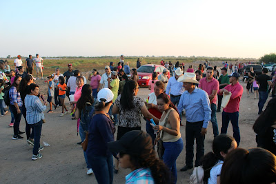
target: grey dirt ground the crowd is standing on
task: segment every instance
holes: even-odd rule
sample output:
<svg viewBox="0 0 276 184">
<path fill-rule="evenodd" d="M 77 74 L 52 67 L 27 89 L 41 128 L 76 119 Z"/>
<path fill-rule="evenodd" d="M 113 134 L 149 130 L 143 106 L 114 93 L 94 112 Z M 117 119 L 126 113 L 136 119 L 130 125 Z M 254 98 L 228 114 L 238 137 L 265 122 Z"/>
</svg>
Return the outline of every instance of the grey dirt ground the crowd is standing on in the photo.
<svg viewBox="0 0 276 184">
<path fill-rule="evenodd" d="M 37 81 L 40 86 L 45 85 L 44 81 Z M 241 131 L 240 147 L 256 147 L 255 133 L 252 125 L 257 119 L 257 103 L 254 95 L 249 98 L 246 95 L 246 83 L 244 94 L 240 104 L 239 128 Z M 46 88 L 40 87 L 45 94 Z M 142 99 L 148 95 L 147 88 L 140 88 L 138 96 Z M 268 98 L 270 100 L 271 98 Z M 66 99 L 68 104 L 68 99 Z M 267 104 L 267 102 L 266 102 Z M 266 105 L 265 105 L 266 107 Z M 86 175 L 86 163 L 83 158 L 80 141 L 77 136 L 77 122 L 71 120 L 69 115 L 59 117 L 61 108 L 53 114 L 46 114 L 46 123 L 43 124 L 41 143 L 46 141 L 50 147 L 44 147 L 41 151 L 42 159 L 32 161 L 32 146 L 27 146 L 26 136 L 24 140 L 12 140 L 13 130 L 8 127 L 10 113 L 0 117 L 0 183 L 97 183 L 95 176 Z M 186 122 L 185 116 L 182 119 Z M 221 112 L 217 113 L 219 130 L 221 127 Z M 142 130 L 146 130 L 146 122 L 141 119 Z M 21 119 L 20 130 L 25 132 L 25 121 Z M 115 133 L 117 134 L 117 133 Z M 232 126 L 228 127 L 228 134 L 233 136 Z M 185 127 L 181 127 L 181 136 L 185 140 Z M 210 152 L 213 141 L 213 128 L 208 126 L 208 134 L 205 140 L 205 152 Z M 177 170 L 179 171 L 185 163 L 185 141 L 184 150 L 177 159 Z M 113 183 L 124 183 L 126 174 L 130 170 L 119 170 L 114 176 Z M 188 183 L 192 170 L 178 172 L 177 183 Z"/>
</svg>

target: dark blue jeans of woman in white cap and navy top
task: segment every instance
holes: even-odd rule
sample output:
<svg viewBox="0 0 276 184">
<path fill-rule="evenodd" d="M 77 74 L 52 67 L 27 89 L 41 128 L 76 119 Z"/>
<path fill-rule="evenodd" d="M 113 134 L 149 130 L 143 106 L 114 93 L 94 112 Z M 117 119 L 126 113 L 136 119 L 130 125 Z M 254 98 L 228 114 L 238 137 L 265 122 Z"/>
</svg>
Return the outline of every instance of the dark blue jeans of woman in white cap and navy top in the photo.
<svg viewBox="0 0 276 184">
<path fill-rule="evenodd" d="M 113 157 L 112 154 L 108 156 L 90 155 L 88 161 L 92 166 L 98 183 L 110 184 L 113 183 Z"/>
</svg>

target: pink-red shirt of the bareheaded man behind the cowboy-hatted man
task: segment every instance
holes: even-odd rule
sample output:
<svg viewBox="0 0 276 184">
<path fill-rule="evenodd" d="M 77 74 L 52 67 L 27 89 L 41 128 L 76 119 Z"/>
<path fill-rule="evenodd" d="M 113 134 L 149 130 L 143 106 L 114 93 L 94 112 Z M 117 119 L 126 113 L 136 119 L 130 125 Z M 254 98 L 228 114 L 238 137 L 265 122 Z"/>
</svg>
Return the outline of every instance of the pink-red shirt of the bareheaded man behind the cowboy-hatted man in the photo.
<svg viewBox="0 0 276 184">
<path fill-rule="evenodd" d="M 208 82 L 206 77 L 204 77 L 199 81 L 199 88 L 206 91 L 210 95 L 212 94 L 213 90 L 219 90 L 219 81 L 212 77 L 211 81 Z M 217 94 L 215 94 L 214 99 L 210 101 L 210 103 L 217 103 Z"/>
</svg>

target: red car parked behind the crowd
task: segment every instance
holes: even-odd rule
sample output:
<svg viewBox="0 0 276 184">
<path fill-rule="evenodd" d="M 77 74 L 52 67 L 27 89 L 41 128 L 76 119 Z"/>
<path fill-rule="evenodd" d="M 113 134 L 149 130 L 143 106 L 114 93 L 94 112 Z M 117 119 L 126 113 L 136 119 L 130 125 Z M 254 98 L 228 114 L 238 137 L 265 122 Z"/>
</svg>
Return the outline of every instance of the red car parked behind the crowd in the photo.
<svg viewBox="0 0 276 184">
<path fill-rule="evenodd" d="M 157 72 L 158 76 L 163 73 L 165 69 L 162 65 L 141 65 L 137 69 L 137 74 L 139 76 L 138 84 L 139 86 L 148 86 L 148 82 L 152 79 L 152 73 Z M 170 72 L 168 71 L 168 79 L 170 79 Z"/>
</svg>

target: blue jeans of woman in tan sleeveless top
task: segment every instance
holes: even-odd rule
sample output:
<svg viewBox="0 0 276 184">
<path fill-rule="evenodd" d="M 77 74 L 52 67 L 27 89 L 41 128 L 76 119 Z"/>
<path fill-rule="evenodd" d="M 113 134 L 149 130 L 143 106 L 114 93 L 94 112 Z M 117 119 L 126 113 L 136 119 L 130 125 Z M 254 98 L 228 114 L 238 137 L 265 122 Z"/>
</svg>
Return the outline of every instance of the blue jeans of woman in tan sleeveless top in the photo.
<svg viewBox="0 0 276 184">
<path fill-rule="evenodd" d="M 183 140 L 180 137 L 176 142 L 164 142 L 163 145 L 165 148 L 163 161 L 171 172 L 173 183 L 177 183 L 177 157 L 183 150 Z"/>
</svg>

